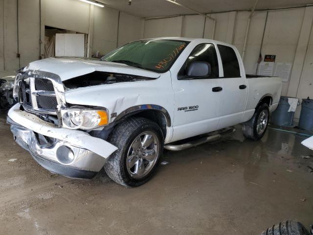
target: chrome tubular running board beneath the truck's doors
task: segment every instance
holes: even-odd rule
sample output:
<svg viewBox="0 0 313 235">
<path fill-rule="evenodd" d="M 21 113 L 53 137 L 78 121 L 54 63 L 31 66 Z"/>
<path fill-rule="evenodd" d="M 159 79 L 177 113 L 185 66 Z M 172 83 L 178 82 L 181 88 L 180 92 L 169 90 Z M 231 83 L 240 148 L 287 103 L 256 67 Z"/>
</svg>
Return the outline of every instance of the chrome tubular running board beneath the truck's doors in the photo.
<svg viewBox="0 0 313 235">
<path fill-rule="evenodd" d="M 199 136 L 199 139 L 187 141 L 185 143 L 175 144 L 175 142 L 174 142 L 172 144 L 165 144 L 164 148 L 167 150 L 171 150 L 171 151 L 180 151 L 180 150 L 184 150 L 186 148 L 198 146 L 202 143 L 214 141 L 214 140 L 220 138 L 221 136 L 224 136 L 224 135 L 229 134 L 229 133 L 233 133 L 235 131 L 236 131 L 235 128 L 228 127 L 228 128 L 221 129 L 219 131 L 214 131 L 214 132 L 208 133 L 205 136 L 201 135 L 201 136 Z"/>
</svg>

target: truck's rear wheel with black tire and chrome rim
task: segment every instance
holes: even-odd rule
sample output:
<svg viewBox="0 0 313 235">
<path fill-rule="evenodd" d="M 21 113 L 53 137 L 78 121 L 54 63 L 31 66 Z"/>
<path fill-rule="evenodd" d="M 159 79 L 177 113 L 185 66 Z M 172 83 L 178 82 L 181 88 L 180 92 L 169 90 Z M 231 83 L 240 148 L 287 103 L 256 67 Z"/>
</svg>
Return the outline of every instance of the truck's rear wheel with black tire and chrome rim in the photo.
<svg viewBox="0 0 313 235">
<path fill-rule="evenodd" d="M 264 125 L 264 129 L 261 128 L 262 132 L 259 132 L 258 131 L 259 130 L 258 119 L 262 118 L 264 113 L 266 114 L 266 118 L 264 120 L 266 124 Z M 243 123 L 242 131 L 243 131 L 244 136 L 253 141 L 260 140 L 264 136 L 268 128 L 268 118 L 269 118 L 268 104 L 262 103 L 256 108 L 253 117 L 250 120 Z"/>
</svg>

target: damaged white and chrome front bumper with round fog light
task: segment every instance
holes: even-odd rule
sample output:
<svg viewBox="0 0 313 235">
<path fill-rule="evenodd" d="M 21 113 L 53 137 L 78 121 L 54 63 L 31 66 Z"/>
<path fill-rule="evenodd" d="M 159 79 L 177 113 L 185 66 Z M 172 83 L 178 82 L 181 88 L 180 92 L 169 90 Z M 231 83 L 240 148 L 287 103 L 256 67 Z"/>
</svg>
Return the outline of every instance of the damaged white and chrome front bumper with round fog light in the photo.
<svg viewBox="0 0 313 235">
<path fill-rule="evenodd" d="M 70 178 L 91 179 L 117 149 L 79 130 L 57 128 L 13 106 L 8 113 L 14 140 L 47 170 Z"/>
</svg>

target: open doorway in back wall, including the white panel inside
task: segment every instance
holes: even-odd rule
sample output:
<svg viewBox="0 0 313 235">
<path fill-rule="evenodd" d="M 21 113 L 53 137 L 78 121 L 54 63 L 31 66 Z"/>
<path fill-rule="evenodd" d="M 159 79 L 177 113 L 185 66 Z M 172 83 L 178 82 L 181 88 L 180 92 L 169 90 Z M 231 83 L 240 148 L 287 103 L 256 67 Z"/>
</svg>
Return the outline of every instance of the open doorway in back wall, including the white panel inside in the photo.
<svg viewBox="0 0 313 235">
<path fill-rule="evenodd" d="M 86 57 L 88 34 L 45 25 L 45 58 Z"/>
</svg>

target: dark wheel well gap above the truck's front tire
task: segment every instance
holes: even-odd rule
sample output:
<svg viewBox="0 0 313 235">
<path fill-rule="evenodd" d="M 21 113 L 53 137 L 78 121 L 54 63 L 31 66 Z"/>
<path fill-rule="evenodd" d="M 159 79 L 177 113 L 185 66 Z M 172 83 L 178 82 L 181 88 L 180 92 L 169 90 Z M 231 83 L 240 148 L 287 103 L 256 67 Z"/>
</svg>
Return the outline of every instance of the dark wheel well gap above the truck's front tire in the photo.
<svg viewBox="0 0 313 235">
<path fill-rule="evenodd" d="M 135 112 L 133 115 L 129 115 L 128 117 L 141 117 L 141 118 L 147 118 L 149 120 L 152 120 L 156 122 L 156 124 L 161 128 L 161 131 L 163 133 L 163 137 L 165 139 L 166 137 L 166 126 L 167 126 L 167 120 L 165 115 L 158 110 L 143 110 L 140 112 Z"/>
</svg>

